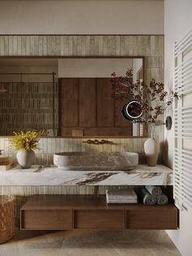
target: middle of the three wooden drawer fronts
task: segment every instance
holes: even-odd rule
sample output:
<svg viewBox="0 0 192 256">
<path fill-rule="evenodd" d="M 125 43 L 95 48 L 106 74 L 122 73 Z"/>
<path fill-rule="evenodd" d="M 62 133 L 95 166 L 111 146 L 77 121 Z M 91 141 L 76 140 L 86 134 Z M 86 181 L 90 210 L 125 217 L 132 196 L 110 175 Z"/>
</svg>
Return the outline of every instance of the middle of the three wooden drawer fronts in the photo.
<svg viewBox="0 0 192 256">
<path fill-rule="evenodd" d="M 124 210 L 75 210 L 74 228 L 124 228 Z"/>
</svg>

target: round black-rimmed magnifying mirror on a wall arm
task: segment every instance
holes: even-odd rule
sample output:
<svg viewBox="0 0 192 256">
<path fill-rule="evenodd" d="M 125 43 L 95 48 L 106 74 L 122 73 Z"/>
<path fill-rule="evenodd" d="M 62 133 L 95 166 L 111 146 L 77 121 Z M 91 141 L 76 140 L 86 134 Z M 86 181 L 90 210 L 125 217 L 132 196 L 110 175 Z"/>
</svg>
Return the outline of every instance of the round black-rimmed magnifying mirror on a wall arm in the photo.
<svg viewBox="0 0 192 256">
<path fill-rule="evenodd" d="M 136 120 L 142 117 L 142 104 L 136 100 L 130 101 L 128 104 L 124 105 L 122 110 L 123 116 L 129 120 Z"/>
</svg>

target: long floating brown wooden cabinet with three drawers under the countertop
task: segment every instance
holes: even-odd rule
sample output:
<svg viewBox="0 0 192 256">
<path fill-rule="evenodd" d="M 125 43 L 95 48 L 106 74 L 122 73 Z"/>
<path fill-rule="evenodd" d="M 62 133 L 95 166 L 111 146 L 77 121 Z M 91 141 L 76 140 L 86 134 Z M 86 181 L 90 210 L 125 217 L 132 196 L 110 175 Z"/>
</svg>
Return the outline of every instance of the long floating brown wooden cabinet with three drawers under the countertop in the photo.
<svg viewBox="0 0 192 256">
<path fill-rule="evenodd" d="M 105 196 L 31 196 L 20 210 L 20 228 L 177 229 L 174 205 L 107 205 Z"/>
</svg>

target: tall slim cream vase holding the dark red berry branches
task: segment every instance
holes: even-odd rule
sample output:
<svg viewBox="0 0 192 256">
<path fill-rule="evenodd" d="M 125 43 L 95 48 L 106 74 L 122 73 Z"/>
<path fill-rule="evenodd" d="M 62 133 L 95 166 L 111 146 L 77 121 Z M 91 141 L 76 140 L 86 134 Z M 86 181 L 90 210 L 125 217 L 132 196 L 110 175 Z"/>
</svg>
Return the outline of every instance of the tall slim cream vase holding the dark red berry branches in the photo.
<svg viewBox="0 0 192 256">
<path fill-rule="evenodd" d="M 156 166 L 159 156 L 159 142 L 156 139 L 146 139 L 144 143 L 144 152 L 146 154 L 146 163 L 148 166 Z"/>
</svg>

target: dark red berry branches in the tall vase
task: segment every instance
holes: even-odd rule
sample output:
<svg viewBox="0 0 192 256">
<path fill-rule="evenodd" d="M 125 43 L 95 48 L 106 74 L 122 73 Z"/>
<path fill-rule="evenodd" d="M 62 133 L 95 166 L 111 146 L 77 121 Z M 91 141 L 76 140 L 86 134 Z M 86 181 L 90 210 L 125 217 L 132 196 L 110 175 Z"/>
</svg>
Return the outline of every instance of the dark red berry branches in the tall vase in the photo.
<svg viewBox="0 0 192 256">
<path fill-rule="evenodd" d="M 133 68 L 128 68 L 124 77 L 117 76 L 116 73 L 112 73 L 111 77 L 112 97 L 139 103 L 139 109 L 135 108 L 134 111 L 142 111 L 142 117 L 137 121 L 155 123 L 173 103 L 173 99 L 178 99 L 176 92 L 168 93 L 164 90 L 164 83 L 156 82 L 155 79 L 151 79 L 149 86 L 139 80 L 133 83 Z"/>
</svg>

